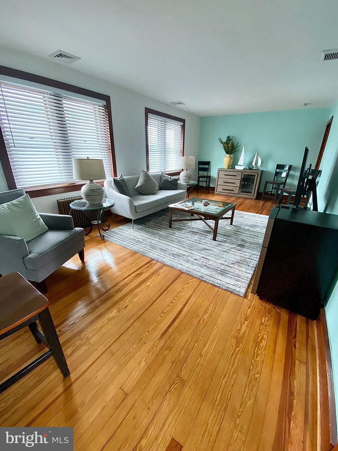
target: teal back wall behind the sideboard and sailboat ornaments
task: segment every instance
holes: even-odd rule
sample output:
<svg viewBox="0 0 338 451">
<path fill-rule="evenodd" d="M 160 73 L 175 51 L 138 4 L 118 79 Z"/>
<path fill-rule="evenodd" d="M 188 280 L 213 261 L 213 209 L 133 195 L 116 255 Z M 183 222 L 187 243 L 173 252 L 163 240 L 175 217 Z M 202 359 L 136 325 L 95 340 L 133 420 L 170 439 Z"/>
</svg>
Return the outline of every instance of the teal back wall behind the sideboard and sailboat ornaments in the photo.
<svg viewBox="0 0 338 451">
<path fill-rule="evenodd" d="M 297 184 L 304 148 L 309 147 L 308 161 L 315 164 L 329 113 L 329 108 L 310 108 L 202 117 L 199 159 L 211 161 L 211 186 L 215 186 L 217 168 L 223 167 L 224 151 L 218 137 L 225 139 L 227 135 L 234 136 L 241 144 L 232 167 L 239 159 L 242 145 L 245 166 L 258 150 L 262 160 L 260 169 L 264 170 L 261 189 L 265 179 L 273 178 L 277 163 L 293 165 L 288 185 Z"/>
</svg>

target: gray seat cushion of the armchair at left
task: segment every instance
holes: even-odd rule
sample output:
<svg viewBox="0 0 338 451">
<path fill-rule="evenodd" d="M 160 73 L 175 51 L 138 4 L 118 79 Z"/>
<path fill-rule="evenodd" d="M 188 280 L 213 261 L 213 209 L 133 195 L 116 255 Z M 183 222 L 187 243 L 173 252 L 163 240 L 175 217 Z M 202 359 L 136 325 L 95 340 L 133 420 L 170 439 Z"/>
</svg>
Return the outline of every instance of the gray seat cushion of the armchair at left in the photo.
<svg viewBox="0 0 338 451">
<path fill-rule="evenodd" d="M 65 252 L 74 243 L 83 239 L 84 230 L 48 230 L 27 242 L 29 255 L 23 259 L 29 269 L 38 269 L 55 256 Z"/>
</svg>

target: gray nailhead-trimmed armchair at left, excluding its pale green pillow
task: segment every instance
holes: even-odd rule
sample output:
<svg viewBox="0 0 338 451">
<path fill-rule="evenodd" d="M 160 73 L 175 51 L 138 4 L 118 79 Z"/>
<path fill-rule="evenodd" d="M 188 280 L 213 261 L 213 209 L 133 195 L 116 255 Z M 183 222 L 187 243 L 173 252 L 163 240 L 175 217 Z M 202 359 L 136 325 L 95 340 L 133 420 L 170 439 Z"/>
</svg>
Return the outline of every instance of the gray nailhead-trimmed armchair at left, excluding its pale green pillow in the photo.
<svg viewBox="0 0 338 451">
<path fill-rule="evenodd" d="M 0 193 L 0 204 L 23 196 L 22 189 Z M 0 235 L 0 274 L 19 272 L 25 279 L 39 283 L 46 292 L 45 278 L 78 253 L 84 261 L 84 230 L 74 227 L 66 215 L 39 213 L 49 230 L 25 241 L 16 236 Z"/>
</svg>

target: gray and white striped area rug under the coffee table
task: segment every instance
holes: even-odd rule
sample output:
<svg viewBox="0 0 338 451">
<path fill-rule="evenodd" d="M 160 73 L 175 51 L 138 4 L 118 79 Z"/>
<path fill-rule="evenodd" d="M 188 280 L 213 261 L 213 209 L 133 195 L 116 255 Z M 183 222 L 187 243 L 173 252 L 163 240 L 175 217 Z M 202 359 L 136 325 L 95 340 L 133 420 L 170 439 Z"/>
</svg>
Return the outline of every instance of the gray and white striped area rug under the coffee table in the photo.
<svg viewBox="0 0 338 451">
<path fill-rule="evenodd" d="M 228 213 L 226 214 L 226 216 Z M 173 219 L 187 217 L 173 212 Z M 219 221 L 217 241 L 202 221 L 173 222 L 168 209 L 104 233 L 113 243 L 212 285 L 244 296 L 258 262 L 268 216 L 236 211 L 233 226 Z M 210 221 L 213 226 L 214 221 Z"/>
</svg>

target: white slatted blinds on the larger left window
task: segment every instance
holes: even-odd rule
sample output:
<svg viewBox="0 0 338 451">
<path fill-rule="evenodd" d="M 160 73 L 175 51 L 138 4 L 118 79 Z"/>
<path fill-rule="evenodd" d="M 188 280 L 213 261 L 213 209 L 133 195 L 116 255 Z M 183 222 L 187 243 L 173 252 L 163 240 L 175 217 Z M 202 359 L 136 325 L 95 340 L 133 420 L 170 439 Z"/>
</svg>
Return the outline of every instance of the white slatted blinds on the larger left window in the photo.
<svg viewBox="0 0 338 451">
<path fill-rule="evenodd" d="M 74 157 L 102 158 L 112 176 L 103 101 L 0 81 L 0 126 L 17 188 L 73 183 Z"/>
</svg>

